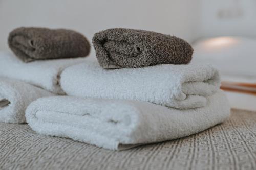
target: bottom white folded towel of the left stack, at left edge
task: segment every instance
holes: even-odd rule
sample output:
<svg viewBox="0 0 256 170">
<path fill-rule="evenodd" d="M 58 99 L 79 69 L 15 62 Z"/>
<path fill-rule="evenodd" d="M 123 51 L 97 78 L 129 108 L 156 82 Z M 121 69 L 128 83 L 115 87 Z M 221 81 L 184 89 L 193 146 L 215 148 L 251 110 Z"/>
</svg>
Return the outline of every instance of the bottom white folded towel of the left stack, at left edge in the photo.
<svg viewBox="0 0 256 170">
<path fill-rule="evenodd" d="M 37 98 L 52 95 L 30 84 L 0 77 L 0 122 L 26 123 L 27 106 Z"/>
</svg>

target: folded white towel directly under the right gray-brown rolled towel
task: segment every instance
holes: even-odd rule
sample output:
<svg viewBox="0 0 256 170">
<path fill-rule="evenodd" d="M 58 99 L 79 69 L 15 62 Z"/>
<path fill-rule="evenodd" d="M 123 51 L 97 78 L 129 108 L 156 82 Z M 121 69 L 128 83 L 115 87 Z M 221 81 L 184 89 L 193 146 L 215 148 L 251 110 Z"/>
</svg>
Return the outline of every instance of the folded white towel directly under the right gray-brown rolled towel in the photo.
<svg viewBox="0 0 256 170">
<path fill-rule="evenodd" d="M 145 101 L 181 109 L 205 106 L 206 97 L 220 87 L 218 71 L 210 65 L 106 70 L 97 62 L 87 62 L 65 69 L 60 82 L 73 96 Z"/>
</svg>

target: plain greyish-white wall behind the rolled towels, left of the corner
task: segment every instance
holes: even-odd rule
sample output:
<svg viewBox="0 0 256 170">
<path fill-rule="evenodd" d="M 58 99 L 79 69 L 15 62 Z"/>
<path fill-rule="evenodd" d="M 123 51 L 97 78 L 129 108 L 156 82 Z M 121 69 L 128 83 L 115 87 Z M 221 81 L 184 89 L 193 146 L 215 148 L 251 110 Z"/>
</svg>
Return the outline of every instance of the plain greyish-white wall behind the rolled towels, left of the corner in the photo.
<svg viewBox="0 0 256 170">
<path fill-rule="evenodd" d="M 20 26 L 69 28 L 90 40 L 95 32 L 124 27 L 176 35 L 197 36 L 200 0 L 0 0 L 0 50 L 8 33 Z"/>
</svg>

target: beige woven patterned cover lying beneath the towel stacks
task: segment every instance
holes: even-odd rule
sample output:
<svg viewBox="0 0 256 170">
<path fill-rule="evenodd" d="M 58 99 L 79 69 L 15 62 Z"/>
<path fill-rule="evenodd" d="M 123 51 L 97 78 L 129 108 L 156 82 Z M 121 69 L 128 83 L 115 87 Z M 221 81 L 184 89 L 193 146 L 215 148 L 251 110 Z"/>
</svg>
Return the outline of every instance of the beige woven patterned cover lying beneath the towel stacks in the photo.
<svg viewBox="0 0 256 170">
<path fill-rule="evenodd" d="M 0 169 L 256 169 L 256 112 L 178 140 L 109 151 L 0 123 Z"/>
</svg>

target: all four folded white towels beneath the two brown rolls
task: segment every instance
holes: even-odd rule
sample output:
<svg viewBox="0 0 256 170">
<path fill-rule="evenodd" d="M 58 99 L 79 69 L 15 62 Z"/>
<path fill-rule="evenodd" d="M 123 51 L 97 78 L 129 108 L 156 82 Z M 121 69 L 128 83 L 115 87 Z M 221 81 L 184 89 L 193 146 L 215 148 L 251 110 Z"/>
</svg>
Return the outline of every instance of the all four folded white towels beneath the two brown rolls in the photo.
<svg viewBox="0 0 256 170">
<path fill-rule="evenodd" d="M 23 63 L 1 52 L 0 76 L 1 122 L 111 150 L 195 134 L 230 113 L 210 65 L 106 70 L 90 57 Z"/>
</svg>

